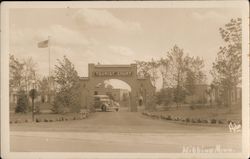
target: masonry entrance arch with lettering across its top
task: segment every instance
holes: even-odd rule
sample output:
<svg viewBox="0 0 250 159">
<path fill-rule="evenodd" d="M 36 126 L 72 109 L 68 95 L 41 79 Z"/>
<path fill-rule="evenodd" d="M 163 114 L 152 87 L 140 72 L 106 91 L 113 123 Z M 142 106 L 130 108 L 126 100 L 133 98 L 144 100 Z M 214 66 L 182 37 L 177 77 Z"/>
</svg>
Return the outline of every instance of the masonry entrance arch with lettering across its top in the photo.
<svg viewBox="0 0 250 159">
<path fill-rule="evenodd" d="M 101 65 L 89 64 L 88 77 L 80 78 L 81 81 L 81 106 L 91 108 L 93 105 L 93 95 L 95 86 L 109 79 L 118 79 L 124 81 L 131 87 L 130 111 L 136 112 L 139 100 L 144 100 L 145 106 L 148 106 L 149 99 L 155 92 L 155 87 L 149 78 L 138 78 L 137 65 Z"/>
</svg>

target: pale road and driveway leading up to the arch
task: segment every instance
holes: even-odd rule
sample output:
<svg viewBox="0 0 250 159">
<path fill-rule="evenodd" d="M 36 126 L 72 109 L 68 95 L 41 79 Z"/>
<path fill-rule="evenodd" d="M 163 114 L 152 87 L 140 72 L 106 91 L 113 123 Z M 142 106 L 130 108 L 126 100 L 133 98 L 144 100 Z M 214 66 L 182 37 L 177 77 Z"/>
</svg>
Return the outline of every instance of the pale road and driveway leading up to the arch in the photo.
<svg viewBox="0 0 250 159">
<path fill-rule="evenodd" d="M 241 134 L 227 127 L 190 126 L 153 120 L 139 112 L 97 112 L 90 118 L 12 124 L 11 151 L 182 152 L 183 147 L 220 146 L 238 152 Z"/>
</svg>

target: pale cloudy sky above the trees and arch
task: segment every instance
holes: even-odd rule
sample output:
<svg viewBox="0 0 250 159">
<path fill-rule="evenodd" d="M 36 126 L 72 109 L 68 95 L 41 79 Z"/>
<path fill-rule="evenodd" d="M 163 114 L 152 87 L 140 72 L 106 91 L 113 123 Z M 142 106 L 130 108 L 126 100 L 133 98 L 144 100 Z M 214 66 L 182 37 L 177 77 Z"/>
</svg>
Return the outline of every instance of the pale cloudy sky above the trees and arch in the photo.
<svg viewBox="0 0 250 159">
<path fill-rule="evenodd" d="M 160 59 L 176 44 L 204 59 L 209 82 L 209 70 L 223 45 L 219 28 L 237 17 L 240 10 L 233 8 L 11 9 L 10 54 L 32 57 L 38 73 L 48 75 L 49 49 L 37 43 L 50 36 L 51 67 L 66 55 L 79 76 L 86 77 L 88 63 Z"/>
</svg>

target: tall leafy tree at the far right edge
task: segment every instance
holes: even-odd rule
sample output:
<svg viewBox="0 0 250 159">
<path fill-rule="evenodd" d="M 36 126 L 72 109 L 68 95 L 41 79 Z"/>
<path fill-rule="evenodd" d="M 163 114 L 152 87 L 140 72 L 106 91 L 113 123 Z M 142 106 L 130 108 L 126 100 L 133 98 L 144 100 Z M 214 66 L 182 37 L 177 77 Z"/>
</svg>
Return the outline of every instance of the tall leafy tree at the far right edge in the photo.
<svg viewBox="0 0 250 159">
<path fill-rule="evenodd" d="M 241 19 L 231 19 L 224 28 L 219 28 L 224 45 L 219 48 L 211 74 L 213 84 L 219 87 L 225 105 L 231 107 L 232 90 L 241 83 L 242 49 Z"/>
</svg>

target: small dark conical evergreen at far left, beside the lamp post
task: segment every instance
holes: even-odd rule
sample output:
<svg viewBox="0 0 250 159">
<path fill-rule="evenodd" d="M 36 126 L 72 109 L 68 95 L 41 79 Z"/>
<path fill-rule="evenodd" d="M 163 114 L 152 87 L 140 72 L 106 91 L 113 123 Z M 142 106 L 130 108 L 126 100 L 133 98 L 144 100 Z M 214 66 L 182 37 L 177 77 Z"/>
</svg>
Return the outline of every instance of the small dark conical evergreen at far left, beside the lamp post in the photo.
<svg viewBox="0 0 250 159">
<path fill-rule="evenodd" d="M 18 92 L 18 99 L 15 112 L 26 113 L 27 111 L 28 111 L 28 96 L 24 90 L 20 90 Z"/>
</svg>

